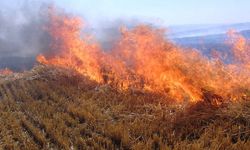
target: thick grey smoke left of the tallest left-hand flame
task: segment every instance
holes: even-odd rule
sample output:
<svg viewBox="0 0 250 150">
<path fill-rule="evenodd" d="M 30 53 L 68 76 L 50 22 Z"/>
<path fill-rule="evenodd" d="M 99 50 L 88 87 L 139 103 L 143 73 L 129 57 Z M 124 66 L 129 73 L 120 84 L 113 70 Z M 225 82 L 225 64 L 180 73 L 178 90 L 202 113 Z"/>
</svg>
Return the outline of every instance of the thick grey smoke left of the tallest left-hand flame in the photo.
<svg viewBox="0 0 250 150">
<path fill-rule="evenodd" d="M 33 66 L 35 56 L 49 50 L 48 1 L 0 1 L 0 68 Z"/>
</svg>

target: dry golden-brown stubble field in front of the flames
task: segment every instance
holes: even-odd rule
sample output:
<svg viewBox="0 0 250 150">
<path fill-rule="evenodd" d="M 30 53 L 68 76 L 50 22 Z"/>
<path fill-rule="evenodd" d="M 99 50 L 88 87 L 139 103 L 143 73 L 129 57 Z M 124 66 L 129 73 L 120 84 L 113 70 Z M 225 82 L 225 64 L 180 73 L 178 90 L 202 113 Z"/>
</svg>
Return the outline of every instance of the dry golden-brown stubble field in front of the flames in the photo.
<svg viewBox="0 0 250 150">
<path fill-rule="evenodd" d="M 249 149 L 249 97 L 177 105 L 37 66 L 0 77 L 0 149 Z"/>
</svg>

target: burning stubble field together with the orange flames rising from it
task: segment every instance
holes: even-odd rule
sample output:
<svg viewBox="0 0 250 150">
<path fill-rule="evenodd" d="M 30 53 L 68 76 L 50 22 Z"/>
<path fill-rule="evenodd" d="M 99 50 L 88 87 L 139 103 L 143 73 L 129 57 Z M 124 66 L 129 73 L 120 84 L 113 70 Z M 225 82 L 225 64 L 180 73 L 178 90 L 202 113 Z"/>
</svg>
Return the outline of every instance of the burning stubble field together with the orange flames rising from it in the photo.
<svg viewBox="0 0 250 150">
<path fill-rule="evenodd" d="M 53 54 L 0 71 L 0 149 L 249 149 L 250 44 L 238 33 L 212 58 L 145 25 L 106 51 L 80 18 L 49 17 Z"/>
</svg>

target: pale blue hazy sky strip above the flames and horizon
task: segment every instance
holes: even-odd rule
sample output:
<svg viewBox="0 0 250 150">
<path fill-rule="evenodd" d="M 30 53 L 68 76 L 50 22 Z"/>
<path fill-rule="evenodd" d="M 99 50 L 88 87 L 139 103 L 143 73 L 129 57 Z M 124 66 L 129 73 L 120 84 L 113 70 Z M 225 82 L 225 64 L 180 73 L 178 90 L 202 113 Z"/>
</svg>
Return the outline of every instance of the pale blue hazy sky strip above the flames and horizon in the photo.
<svg viewBox="0 0 250 150">
<path fill-rule="evenodd" d="M 55 0 L 90 22 L 146 19 L 166 25 L 250 21 L 250 0 Z"/>
</svg>

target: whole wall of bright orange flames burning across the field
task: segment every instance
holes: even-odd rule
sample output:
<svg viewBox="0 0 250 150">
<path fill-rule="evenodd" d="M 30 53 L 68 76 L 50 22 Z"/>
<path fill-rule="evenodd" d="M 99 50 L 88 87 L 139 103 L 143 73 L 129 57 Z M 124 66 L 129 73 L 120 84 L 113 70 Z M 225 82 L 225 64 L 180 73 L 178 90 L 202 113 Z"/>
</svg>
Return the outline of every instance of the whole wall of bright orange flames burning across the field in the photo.
<svg viewBox="0 0 250 150">
<path fill-rule="evenodd" d="M 53 11 L 50 21 L 51 50 L 58 54 L 39 55 L 38 62 L 74 69 L 100 84 L 194 102 L 205 99 L 207 92 L 224 100 L 234 99 L 250 88 L 250 48 L 243 37 L 234 36 L 232 41 L 238 63 L 224 64 L 169 42 L 162 29 L 143 25 L 131 30 L 122 28 L 114 48 L 104 51 L 82 35 L 80 18 Z"/>
</svg>

